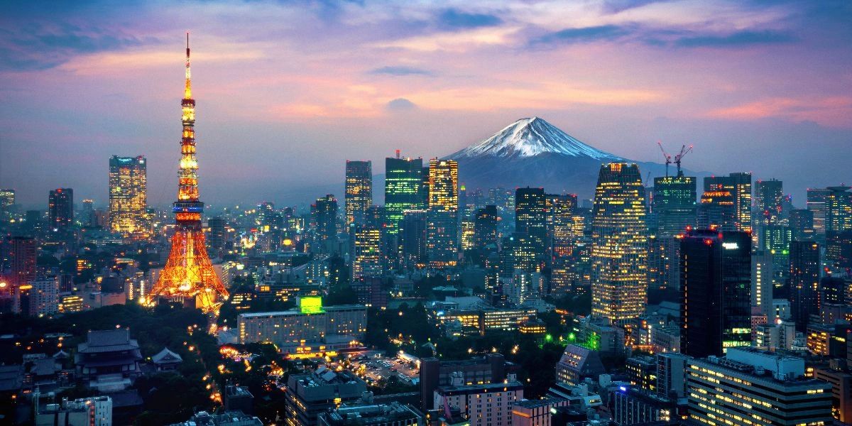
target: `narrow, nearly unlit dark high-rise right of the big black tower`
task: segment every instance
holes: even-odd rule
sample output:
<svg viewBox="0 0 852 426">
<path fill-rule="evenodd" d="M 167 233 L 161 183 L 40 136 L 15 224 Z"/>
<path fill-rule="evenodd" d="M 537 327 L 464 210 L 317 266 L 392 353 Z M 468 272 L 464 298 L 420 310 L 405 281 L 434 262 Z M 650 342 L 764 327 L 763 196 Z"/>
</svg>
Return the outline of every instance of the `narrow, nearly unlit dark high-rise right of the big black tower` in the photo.
<svg viewBox="0 0 852 426">
<path fill-rule="evenodd" d="M 790 308 L 796 328 L 806 331 L 810 315 L 820 314 L 820 245 L 793 241 L 790 245 Z"/>
</svg>

